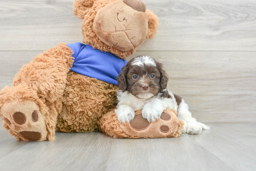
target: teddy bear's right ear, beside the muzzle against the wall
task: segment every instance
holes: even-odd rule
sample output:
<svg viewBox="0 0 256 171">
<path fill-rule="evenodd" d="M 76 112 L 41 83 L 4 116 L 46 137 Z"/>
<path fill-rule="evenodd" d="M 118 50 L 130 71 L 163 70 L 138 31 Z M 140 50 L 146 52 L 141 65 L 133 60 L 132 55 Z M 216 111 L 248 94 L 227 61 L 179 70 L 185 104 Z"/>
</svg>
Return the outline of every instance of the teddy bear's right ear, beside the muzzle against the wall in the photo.
<svg viewBox="0 0 256 171">
<path fill-rule="evenodd" d="M 147 39 L 153 39 L 157 32 L 157 27 L 159 25 L 158 23 L 158 17 L 149 9 L 146 10 L 148 15 L 148 33 L 147 33 Z"/>
</svg>

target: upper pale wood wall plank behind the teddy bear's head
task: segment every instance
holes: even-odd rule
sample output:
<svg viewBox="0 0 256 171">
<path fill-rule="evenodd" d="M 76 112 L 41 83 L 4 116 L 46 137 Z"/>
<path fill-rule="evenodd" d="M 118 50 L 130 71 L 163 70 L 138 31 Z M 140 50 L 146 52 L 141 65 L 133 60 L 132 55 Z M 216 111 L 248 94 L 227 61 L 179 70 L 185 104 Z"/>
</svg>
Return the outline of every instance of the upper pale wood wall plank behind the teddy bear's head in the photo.
<svg viewBox="0 0 256 171">
<path fill-rule="evenodd" d="M 0 50 L 46 50 L 82 41 L 74 0 L 1 0 Z M 138 50 L 256 51 L 254 0 L 143 0 L 158 33 Z"/>
</svg>

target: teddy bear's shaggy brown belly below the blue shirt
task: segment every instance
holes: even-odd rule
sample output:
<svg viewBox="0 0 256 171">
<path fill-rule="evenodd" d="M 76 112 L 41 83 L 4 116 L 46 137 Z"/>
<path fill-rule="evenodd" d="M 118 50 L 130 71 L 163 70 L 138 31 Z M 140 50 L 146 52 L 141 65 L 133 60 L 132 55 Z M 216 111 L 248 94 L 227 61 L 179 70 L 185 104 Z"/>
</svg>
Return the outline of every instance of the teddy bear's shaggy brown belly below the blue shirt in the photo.
<svg viewBox="0 0 256 171">
<path fill-rule="evenodd" d="M 117 86 L 70 71 L 62 96 L 62 110 L 56 130 L 62 132 L 91 132 L 117 102 Z"/>
</svg>

